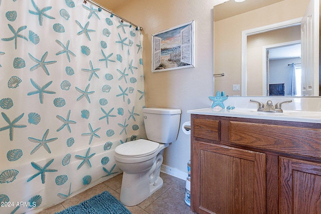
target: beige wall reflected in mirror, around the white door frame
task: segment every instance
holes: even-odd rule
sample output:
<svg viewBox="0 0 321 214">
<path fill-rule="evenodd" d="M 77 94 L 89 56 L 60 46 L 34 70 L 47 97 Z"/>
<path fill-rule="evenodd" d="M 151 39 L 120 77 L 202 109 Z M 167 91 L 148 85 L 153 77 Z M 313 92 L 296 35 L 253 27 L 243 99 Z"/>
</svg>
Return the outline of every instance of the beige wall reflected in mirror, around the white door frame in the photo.
<svg viewBox="0 0 321 214">
<path fill-rule="evenodd" d="M 215 79 L 215 90 L 227 95 L 241 95 L 232 91 L 232 84 L 241 85 L 242 31 L 302 17 L 309 0 L 284 0 L 214 24 L 215 73 L 225 73 Z M 261 88 L 260 88 L 261 89 Z"/>
</svg>

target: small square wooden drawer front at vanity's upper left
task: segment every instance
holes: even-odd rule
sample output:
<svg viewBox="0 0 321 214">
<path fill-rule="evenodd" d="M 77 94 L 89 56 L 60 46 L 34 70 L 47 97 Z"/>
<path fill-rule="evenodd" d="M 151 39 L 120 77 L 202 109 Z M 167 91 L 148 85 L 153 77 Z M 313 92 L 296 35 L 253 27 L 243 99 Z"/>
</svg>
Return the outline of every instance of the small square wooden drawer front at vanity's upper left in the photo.
<svg viewBox="0 0 321 214">
<path fill-rule="evenodd" d="M 193 135 L 210 140 L 220 140 L 220 121 L 194 118 L 193 120 Z"/>
</svg>

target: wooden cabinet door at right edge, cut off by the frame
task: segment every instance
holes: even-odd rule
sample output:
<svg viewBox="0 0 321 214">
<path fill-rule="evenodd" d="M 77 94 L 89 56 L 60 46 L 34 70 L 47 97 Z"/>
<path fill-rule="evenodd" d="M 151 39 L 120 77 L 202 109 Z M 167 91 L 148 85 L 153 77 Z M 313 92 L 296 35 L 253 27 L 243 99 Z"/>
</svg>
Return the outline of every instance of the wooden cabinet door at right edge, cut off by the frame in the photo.
<svg viewBox="0 0 321 214">
<path fill-rule="evenodd" d="M 279 213 L 321 213 L 321 164 L 279 157 Z"/>
</svg>

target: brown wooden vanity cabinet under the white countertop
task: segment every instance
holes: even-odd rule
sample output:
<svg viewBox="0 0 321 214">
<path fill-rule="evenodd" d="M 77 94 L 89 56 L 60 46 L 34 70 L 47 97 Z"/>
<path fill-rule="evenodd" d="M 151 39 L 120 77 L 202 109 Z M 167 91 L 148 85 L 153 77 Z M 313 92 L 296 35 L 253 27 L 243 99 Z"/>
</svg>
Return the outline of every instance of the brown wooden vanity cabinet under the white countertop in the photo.
<svg viewBox="0 0 321 214">
<path fill-rule="evenodd" d="M 321 213 L 321 125 L 191 115 L 191 209 Z"/>
</svg>

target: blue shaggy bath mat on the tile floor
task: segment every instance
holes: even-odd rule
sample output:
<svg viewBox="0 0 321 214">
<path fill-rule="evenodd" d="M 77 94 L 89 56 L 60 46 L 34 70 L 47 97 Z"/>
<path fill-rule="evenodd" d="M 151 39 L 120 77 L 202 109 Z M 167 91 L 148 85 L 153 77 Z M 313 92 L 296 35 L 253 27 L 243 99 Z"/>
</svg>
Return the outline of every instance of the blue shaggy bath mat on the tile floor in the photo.
<svg viewBox="0 0 321 214">
<path fill-rule="evenodd" d="M 131 212 L 109 192 L 104 191 L 78 205 L 70 206 L 56 214 L 131 214 Z"/>
</svg>

